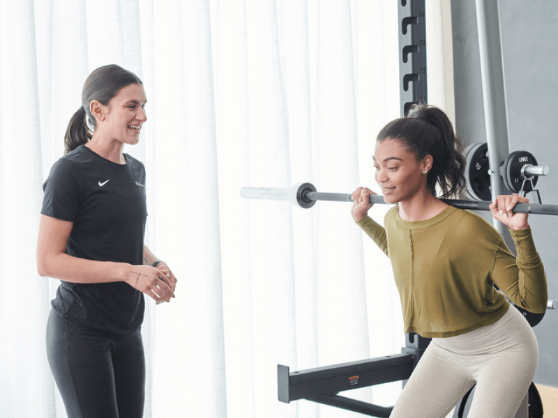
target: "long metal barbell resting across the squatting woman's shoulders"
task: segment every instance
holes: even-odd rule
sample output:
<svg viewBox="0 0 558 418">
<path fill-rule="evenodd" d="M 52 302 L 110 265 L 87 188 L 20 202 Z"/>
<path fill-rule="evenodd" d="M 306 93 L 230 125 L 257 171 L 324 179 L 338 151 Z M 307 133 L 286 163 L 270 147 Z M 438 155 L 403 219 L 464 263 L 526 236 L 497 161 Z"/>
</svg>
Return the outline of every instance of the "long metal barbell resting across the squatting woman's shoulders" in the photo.
<svg viewBox="0 0 558 418">
<path fill-rule="evenodd" d="M 352 202 L 351 194 L 318 192 L 312 183 L 297 183 L 288 187 L 242 187 L 240 195 L 245 199 L 263 199 L 290 201 L 294 206 L 312 208 L 317 201 Z M 381 194 L 371 194 L 370 203 L 386 203 Z M 442 199 L 455 208 L 469 210 L 490 210 L 488 201 L 467 201 Z M 540 205 L 536 203 L 518 203 L 513 212 L 534 215 L 558 215 L 558 205 Z"/>
</svg>

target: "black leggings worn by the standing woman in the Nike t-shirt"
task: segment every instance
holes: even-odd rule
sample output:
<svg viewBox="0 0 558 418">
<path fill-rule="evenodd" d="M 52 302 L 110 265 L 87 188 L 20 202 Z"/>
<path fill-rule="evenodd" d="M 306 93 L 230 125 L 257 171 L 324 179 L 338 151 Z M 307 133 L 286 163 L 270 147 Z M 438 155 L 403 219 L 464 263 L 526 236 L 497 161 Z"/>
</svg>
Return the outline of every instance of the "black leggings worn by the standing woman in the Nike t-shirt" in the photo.
<svg viewBox="0 0 558 418">
<path fill-rule="evenodd" d="M 68 418 L 141 418 L 145 356 L 140 330 L 129 336 L 72 325 L 54 310 L 47 355 Z"/>
</svg>

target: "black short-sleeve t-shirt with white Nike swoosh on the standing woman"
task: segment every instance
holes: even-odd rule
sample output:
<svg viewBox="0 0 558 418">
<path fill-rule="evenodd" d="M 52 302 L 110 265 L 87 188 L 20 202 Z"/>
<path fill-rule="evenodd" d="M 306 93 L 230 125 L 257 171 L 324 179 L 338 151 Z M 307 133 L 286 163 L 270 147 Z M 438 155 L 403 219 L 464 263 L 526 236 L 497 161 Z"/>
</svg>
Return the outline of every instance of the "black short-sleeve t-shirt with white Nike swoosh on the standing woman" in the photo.
<svg viewBox="0 0 558 418">
<path fill-rule="evenodd" d="M 142 264 L 147 217 L 144 165 L 125 154 L 116 164 L 79 146 L 60 158 L 43 185 L 41 213 L 73 222 L 66 254 Z M 144 317 L 144 297 L 123 281 L 61 281 L 52 307 L 63 318 L 103 332 L 132 334 Z"/>
</svg>

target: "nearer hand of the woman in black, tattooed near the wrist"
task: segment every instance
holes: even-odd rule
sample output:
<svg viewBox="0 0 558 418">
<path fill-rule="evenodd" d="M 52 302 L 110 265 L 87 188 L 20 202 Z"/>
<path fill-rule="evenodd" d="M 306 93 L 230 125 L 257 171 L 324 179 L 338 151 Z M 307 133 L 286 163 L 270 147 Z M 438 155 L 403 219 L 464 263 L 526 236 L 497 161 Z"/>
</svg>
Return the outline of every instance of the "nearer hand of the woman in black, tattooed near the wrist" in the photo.
<svg viewBox="0 0 558 418">
<path fill-rule="evenodd" d="M 125 281 L 156 302 L 170 302 L 170 298 L 174 297 L 169 286 L 169 277 L 151 265 L 132 265 L 126 273 Z"/>
</svg>

